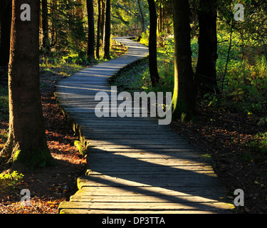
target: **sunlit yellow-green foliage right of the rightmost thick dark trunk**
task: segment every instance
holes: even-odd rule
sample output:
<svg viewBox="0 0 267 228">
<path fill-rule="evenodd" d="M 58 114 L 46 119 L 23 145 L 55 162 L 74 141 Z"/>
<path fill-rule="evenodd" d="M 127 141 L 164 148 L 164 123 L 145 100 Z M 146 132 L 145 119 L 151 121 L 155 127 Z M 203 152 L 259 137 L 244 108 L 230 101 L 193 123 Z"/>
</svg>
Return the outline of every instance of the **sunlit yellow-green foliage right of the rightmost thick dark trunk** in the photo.
<svg viewBox="0 0 267 228">
<path fill-rule="evenodd" d="M 218 39 L 218 54 L 216 70 L 218 84 L 224 78 L 227 50 L 229 48 L 228 33 L 221 31 Z M 241 45 L 241 43 L 244 43 Z M 259 112 L 263 110 L 263 103 L 267 95 L 266 57 L 256 41 L 241 40 L 238 33 L 234 33 L 229 63 L 224 78 L 224 97 L 235 102 L 233 108 L 243 112 Z"/>
</svg>

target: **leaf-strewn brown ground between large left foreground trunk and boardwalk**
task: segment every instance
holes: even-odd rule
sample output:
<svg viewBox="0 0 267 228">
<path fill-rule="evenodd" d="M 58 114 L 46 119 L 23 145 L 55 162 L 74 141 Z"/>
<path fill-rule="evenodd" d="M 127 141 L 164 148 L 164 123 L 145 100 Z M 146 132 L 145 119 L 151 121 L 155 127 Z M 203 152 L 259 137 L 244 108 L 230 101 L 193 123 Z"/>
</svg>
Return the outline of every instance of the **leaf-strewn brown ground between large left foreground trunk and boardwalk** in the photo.
<svg viewBox="0 0 267 228">
<path fill-rule="evenodd" d="M 60 202 L 68 200 L 77 190 L 76 181 L 85 172 L 86 162 L 85 157 L 80 155 L 73 145 L 78 137 L 68 125 L 53 95 L 56 81 L 61 78 L 63 76 L 56 73 L 41 75 L 41 95 L 48 147 L 57 165 L 23 173 L 24 177 L 19 186 L 14 189 L 7 188 L 0 193 L 0 213 L 58 213 Z M 8 121 L 2 121 L 1 127 L 1 129 L 7 129 Z M 30 190 L 31 207 L 21 206 L 22 189 Z"/>
</svg>

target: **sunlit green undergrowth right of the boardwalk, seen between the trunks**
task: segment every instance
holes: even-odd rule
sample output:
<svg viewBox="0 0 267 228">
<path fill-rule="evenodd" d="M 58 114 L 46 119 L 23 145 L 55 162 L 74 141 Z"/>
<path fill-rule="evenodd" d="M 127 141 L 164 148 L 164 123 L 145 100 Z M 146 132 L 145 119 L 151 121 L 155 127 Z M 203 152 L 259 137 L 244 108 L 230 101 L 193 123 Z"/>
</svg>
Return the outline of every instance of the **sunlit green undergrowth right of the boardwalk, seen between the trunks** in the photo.
<svg viewBox="0 0 267 228">
<path fill-rule="evenodd" d="M 148 34 L 143 33 L 140 43 L 148 44 Z M 221 93 L 207 93 L 197 100 L 199 112 L 241 113 L 260 120 L 260 125 L 267 123 L 267 61 L 262 43 L 248 38 L 243 40 L 234 32 L 229 53 L 229 32 L 218 31 L 218 60 L 216 62 L 217 83 Z M 192 68 L 196 71 L 198 60 L 198 40 L 192 39 Z M 174 38 L 164 38 L 163 46 L 157 49 L 159 85 L 152 88 L 148 61 L 122 71 L 112 80 L 112 85 L 119 90 L 130 92 L 144 90 L 172 92 L 174 88 Z M 263 120 L 266 120 L 264 122 Z M 253 150 L 266 150 L 266 133 L 254 135 L 250 146 Z"/>
</svg>

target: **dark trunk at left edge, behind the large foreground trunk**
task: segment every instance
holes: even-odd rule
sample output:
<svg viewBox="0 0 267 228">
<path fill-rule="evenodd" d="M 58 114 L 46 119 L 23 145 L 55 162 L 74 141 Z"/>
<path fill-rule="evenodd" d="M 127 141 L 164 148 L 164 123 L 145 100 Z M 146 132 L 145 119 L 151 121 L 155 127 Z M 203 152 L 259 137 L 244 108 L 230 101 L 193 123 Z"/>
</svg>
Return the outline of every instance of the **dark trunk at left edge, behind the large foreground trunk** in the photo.
<svg viewBox="0 0 267 228">
<path fill-rule="evenodd" d="M 0 66 L 7 67 L 9 64 L 10 31 L 11 31 L 11 1 L 0 2 Z"/>
</svg>

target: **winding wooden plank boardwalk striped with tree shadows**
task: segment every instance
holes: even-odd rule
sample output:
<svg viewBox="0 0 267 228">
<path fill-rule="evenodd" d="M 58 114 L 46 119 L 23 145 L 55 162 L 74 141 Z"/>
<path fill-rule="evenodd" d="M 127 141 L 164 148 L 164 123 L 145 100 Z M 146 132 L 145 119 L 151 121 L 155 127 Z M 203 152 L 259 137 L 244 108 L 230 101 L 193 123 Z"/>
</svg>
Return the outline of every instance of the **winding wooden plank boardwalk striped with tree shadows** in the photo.
<svg viewBox="0 0 267 228">
<path fill-rule="evenodd" d="M 110 93 L 108 78 L 147 56 L 127 38 L 124 56 L 86 68 L 57 85 L 59 105 L 88 146 L 88 171 L 61 213 L 228 213 L 211 160 L 152 118 L 97 118 L 95 93 Z"/>
</svg>

